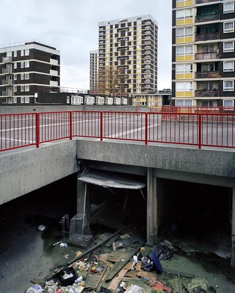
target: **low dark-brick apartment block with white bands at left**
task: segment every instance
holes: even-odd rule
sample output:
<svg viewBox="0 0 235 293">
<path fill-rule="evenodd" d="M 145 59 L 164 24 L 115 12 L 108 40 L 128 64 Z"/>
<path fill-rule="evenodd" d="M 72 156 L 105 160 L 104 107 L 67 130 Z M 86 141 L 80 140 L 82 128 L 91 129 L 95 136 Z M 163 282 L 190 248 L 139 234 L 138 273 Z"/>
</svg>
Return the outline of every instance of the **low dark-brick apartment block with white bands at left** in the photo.
<svg viewBox="0 0 235 293">
<path fill-rule="evenodd" d="M 0 46 L 0 104 L 33 104 L 38 88 L 58 87 L 59 55 L 38 41 Z"/>
</svg>

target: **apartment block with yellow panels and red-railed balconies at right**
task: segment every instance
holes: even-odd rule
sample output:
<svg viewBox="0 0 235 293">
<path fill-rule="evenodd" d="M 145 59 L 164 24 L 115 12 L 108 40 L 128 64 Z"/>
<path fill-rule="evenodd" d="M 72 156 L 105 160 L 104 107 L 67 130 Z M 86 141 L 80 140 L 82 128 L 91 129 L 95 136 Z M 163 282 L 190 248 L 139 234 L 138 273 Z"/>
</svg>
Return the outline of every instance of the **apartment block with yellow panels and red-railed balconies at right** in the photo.
<svg viewBox="0 0 235 293">
<path fill-rule="evenodd" d="M 234 2 L 173 0 L 173 105 L 234 106 Z"/>
</svg>

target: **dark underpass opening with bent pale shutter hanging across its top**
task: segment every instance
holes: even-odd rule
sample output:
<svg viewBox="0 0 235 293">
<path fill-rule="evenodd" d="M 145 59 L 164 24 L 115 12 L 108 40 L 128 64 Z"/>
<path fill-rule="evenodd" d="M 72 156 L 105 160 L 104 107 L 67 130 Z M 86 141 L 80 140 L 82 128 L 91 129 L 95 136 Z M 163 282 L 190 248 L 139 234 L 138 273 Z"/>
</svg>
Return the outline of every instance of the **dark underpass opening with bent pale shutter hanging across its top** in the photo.
<svg viewBox="0 0 235 293">
<path fill-rule="evenodd" d="M 146 239 L 146 177 L 91 170 L 78 180 L 87 183 L 86 213 L 93 235 L 123 229 Z"/>
</svg>

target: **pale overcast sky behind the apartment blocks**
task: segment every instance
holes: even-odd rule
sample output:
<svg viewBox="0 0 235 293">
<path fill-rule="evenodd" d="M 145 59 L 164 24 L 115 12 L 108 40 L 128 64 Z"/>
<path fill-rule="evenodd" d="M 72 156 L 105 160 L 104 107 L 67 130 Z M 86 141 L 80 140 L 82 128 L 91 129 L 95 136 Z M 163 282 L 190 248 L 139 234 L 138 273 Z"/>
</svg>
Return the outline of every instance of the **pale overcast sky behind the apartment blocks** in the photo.
<svg viewBox="0 0 235 293">
<path fill-rule="evenodd" d="M 158 89 L 171 88 L 172 0 L 1 0 L 0 43 L 38 40 L 60 48 L 61 86 L 89 89 L 98 21 L 151 14 L 158 22 Z"/>
</svg>

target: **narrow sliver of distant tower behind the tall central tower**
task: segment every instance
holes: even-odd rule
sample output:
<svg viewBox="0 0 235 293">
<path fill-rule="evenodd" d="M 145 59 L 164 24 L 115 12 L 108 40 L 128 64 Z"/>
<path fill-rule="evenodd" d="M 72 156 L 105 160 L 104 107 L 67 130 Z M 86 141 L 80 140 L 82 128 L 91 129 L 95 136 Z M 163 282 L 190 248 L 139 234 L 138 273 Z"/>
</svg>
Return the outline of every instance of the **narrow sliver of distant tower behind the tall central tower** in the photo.
<svg viewBox="0 0 235 293">
<path fill-rule="evenodd" d="M 98 92 L 98 50 L 90 51 L 90 93 Z"/>
</svg>

